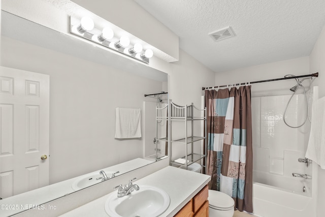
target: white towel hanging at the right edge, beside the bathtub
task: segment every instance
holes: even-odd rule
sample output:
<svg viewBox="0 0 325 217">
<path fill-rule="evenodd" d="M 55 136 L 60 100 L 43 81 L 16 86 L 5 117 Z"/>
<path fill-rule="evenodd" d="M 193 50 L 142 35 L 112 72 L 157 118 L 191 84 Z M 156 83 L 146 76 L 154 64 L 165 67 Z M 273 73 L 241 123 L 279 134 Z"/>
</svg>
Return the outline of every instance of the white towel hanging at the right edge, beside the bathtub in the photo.
<svg viewBox="0 0 325 217">
<path fill-rule="evenodd" d="M 325 169 L 325 97 L 314 100 L 306 158 Z"/>
</svg>

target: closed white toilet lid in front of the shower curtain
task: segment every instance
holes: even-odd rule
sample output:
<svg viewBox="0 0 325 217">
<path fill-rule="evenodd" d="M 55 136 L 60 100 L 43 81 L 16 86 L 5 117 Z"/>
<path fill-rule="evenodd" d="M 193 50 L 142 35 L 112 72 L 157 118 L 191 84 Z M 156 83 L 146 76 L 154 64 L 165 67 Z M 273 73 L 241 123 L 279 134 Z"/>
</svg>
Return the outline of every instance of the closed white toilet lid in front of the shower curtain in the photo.
<svg viewBox="0 0 325 217">
<path fill-rule="evenodd" d="M 229 209 L 234 207 L 235 201 L 229 195 L 222 192 L 209 190 L 209 206 L 215 207 L 216 209 Z"/>
</svg>

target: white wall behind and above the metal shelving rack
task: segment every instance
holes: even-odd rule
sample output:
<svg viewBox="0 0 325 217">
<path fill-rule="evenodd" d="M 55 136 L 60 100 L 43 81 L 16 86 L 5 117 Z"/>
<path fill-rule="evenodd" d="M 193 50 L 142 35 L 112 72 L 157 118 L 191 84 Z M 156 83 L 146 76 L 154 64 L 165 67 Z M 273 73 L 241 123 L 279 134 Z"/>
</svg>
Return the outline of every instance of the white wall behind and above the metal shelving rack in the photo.
<svg viewBox="0 0 325 217">
<path fill-rule="evenodd" d="M 169 98 L 178 105 L 194 104 L 197 108 L 201 107 L 201 96 L 204 95 L 203 86 L 213 86 L 214 73 L 208 68 L 199 63 L 184 51 L 180 50 L 179 61 L 170 64 L 169 74 Z M 200 116 L 197 114 L 197 116 Z M 193 135 L 202 135 L 202 121 L 194 121 Z M 189 122 L 188 122 L 189 124 Z M 188 125 L 190 129 L 190 125 Z M 185 127 L 182 121 L 178 121 L 172 127 L 172 139 L 184 138 Z M 173 158 L 183 157 L 185 153 L 185 146 L 175 144 L 173 149 Z M 189 147 L 189 145 L 188 145 Z M 201 152 L 201 145 L 196 142 L 194 145 L 194 152 Z"/>
</svg>

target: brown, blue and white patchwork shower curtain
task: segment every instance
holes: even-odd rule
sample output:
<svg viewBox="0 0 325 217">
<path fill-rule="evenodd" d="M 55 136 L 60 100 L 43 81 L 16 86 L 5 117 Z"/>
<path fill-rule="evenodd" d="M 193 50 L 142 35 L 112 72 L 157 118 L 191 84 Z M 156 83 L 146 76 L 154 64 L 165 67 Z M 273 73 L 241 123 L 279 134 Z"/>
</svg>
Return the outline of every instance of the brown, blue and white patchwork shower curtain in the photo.
<svg viewBox="0 0 325 217">
<path fill-rule="evenodd" d="M 209 188 L 228 194 L 240 211 L 253 211 L 251 86 L 205 90 Z"/>
</svg>

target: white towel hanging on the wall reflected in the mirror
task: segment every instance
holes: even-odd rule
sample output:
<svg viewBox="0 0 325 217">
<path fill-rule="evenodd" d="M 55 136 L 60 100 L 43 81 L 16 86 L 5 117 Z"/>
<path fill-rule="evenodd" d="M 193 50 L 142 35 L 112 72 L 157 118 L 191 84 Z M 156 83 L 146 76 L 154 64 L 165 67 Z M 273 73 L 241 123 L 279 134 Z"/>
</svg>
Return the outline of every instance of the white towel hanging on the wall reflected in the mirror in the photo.
<svg viewBox="0 0 325 217">
<path fill-rule="evenodd" d="M 115 138 L 141 137 L 141 109 L 116 108 L 115 113 Z"/>
</svg>

